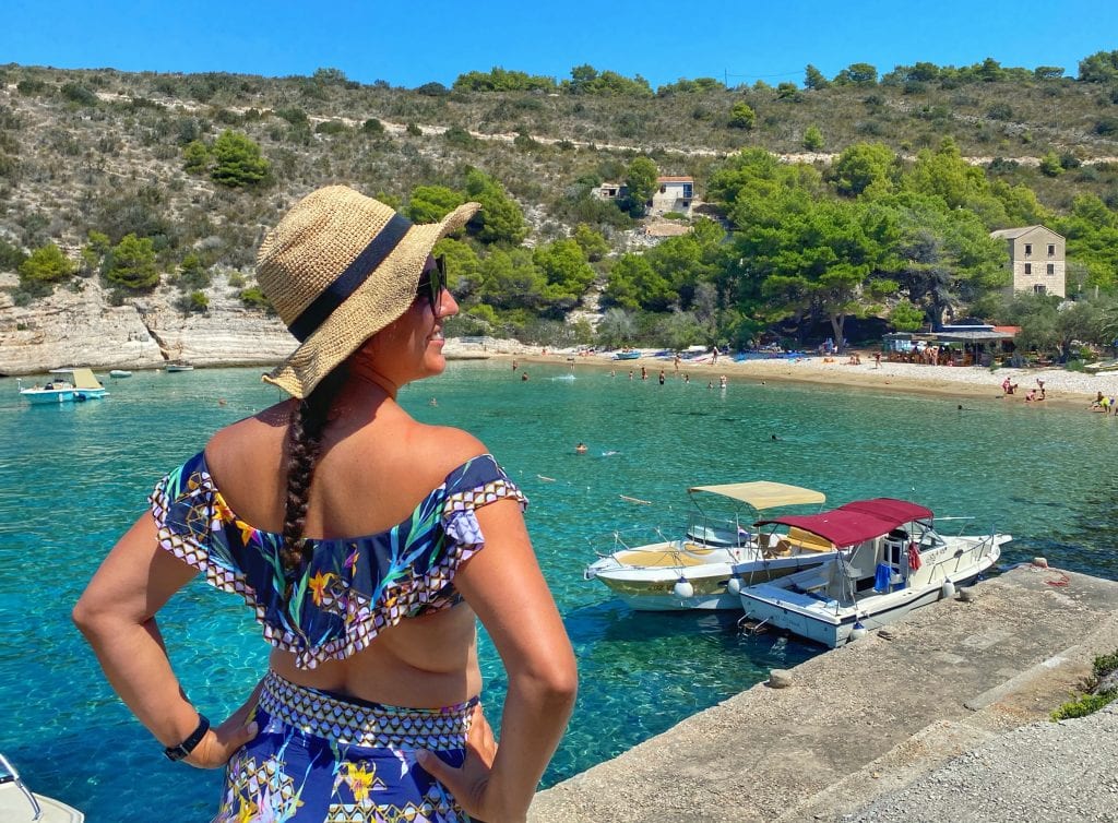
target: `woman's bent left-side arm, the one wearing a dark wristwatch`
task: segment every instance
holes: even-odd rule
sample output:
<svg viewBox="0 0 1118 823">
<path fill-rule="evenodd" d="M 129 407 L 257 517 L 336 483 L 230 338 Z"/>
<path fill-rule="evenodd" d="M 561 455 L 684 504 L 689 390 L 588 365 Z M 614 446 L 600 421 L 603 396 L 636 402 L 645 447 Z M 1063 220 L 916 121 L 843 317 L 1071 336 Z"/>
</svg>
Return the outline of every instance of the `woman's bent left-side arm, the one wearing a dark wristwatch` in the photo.
<svg viewBox="0 0 1118 823">
<path fill-rule="evenodd" d="M 163 746 L 182 742 L 197 728 L 199 716 L 171 671 L 155 613 L 196 574 L 159 547 L 149 512 L 113 547 L 74 607 L 74 623 L 93 646 L 108 682 Z M 244 726 L 249 710 L 247 702 L 211 728 L 186 761 L 224 765 L 255 736 L 255 729 Z"/>
</svg>

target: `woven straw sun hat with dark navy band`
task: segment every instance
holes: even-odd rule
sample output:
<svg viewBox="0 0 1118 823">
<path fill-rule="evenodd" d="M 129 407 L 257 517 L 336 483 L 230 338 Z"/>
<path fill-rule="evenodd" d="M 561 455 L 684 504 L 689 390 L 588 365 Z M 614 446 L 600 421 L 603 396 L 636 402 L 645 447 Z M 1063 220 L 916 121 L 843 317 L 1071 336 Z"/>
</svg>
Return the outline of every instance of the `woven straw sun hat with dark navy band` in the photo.
<svg viewBox="0 0 1118 823">
<path fill-rule="evenodd" d="M 264 238 L 256 278 L 300 347 L 271 375 L 295 397 L 415 302 L 427 255 L 466 225 L 467 202 L 440 223 L 414 225 L 379 200 L 326 186 L 296 202 Z"/>
</svg>

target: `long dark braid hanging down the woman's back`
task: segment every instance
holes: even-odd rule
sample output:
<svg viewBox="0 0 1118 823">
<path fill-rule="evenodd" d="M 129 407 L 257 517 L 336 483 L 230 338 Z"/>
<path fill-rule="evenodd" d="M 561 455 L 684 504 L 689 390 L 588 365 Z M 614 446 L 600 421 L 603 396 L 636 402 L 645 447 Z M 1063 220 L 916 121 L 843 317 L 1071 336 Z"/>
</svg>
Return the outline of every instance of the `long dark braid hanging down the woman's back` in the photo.
<svg viewBox="0 0 1118 823">
<path fill-rule="evenodd" d="M 322 451 L 322 434 L 330 420 L 330 409 L 345 382 L 345 365 L 326 375 L 314 390 L 300 400 L 291 415 L 287 444 L 287 489 L 284 498 L 283 546 L 280 559 L 287 580 L 287 594 L 300 571 L 310 560 L 303 530 L 311 483 Z M 286 598 L 285 598 L 286 599 Z"/>
</svg>

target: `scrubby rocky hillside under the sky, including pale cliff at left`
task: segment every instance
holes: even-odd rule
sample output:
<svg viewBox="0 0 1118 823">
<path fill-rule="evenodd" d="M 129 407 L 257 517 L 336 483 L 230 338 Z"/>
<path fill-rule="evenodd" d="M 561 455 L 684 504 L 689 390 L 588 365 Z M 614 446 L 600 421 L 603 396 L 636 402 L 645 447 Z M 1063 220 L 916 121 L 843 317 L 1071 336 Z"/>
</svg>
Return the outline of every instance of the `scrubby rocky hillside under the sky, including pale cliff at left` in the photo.
<svg viewBox="0 0 1118 823">
<path fill-rule="evenodd" d="M 0 373 L 180 357 L 273 361 L 290 339 L 238 295 L 253 285 L 266 227 L 325 182 L 405 204 L 419 185 L 461 188 L 473 167 L 519 204 L 529 245 L 585 223 L 614 253 L 634 245 L 634 224 L 588 192 L 622 179 L 638 153 L 661 174 L 694 177 L 702 198 L 710 171 L 743 146 L 825 165 L 860 141 L 911 157 L 949 135 L 988 174 L 1029 186 L 1048 208 L 1065 210 L 1084 191 L 1111 208 L 1118 198 L 1110 84 L 788 85 L 694 92 L 680 84 L 626 97 L 401 89 L 332 69 L 264 78 L 0 67 Z M 748 127 L 731 116 L 742 103 L 755 115 Z M 188 148 L 212 145 L 226 131 L 259 146 L 266 179 L 229 187 L 190 168 Z M 1045 157 L 1059 160 L 1059 173 L 1043 173 Z M 54 243 L 77 262 L 91 231 L 114 244 L 149 238 L 161 285 L 121 297 L 87 266 L 48 297 L 19 293 L 6 249 L 26 255 Z M 182 308 L 193 288 L 181 276 L 191 255 L 211 281 L 199 287 L 205 310 Z"/>
</svg>

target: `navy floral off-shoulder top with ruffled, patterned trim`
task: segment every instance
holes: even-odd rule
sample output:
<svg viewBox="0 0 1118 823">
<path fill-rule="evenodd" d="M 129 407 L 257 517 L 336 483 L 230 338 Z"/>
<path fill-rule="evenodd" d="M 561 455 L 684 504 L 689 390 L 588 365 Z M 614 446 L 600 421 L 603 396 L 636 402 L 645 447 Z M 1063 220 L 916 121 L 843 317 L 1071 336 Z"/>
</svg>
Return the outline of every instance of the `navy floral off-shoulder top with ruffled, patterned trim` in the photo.
<svg viewBox="0 0 1118 823">
<path fill-rule="evenodd" d="M 368 537 L 309 539 L 310 562 L 285 606 L 283 536 L 256 529 L 226 504 L 199 452 L 149 498 L 160 546 L 245 598 L 276 649 L 301 669 L 344 660 L 386 626 L 461 600 L 454 574 L 485 539 L 474 511 L 503 498 L 528 500 L 487 454 L 472 457 L 391 529 Z"/>
</svg>

